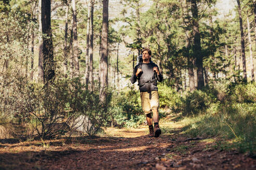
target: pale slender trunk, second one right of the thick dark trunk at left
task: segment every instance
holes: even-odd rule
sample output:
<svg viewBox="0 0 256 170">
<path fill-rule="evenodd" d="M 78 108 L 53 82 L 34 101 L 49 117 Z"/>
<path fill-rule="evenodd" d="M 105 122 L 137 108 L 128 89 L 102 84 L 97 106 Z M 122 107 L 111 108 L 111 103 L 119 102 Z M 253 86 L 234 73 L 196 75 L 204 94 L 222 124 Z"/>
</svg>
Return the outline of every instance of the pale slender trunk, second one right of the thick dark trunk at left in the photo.
<svg viewBox="0 0 256 170">
<path fill-rule="evenodd" d="M 72 30 L 73 30 L 73 58 L 74 58 L 74 69 L 75 69 L 75 75 L 79 75 L 79 52 L 78 52 L 78 27 L 77 27 L 77 21 L 76 21 L 76 4 L 75 0 L 71 0 L 71 6 L 73 11 L 73 24 L 72 24 Z"/>
</svg>

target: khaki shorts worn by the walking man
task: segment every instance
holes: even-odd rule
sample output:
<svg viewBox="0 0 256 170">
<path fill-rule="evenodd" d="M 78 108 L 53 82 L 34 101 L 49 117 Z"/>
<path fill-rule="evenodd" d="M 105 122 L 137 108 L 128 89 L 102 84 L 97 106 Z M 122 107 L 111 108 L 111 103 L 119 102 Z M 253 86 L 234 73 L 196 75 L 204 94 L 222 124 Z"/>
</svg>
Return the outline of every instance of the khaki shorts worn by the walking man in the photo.
<svg viewBox="0 0 256 170">
<path fill-rule="evenodd" d="M 140 92 L 140 100 L 145 115 L 149 114 L 152 109 L 158 109 L 159 107 L 158 91 L 151 91 L 151 100 L 149 100 L 148 92 Z"/>
</svg>

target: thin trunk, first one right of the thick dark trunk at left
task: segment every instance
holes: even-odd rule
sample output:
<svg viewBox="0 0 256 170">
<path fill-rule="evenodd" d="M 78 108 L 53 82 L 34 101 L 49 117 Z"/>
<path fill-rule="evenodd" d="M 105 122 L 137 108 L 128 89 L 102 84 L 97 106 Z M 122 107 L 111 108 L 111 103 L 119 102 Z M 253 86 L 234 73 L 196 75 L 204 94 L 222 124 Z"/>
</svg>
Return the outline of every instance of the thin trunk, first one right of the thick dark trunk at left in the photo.
<svg viewBox="0 0 256 170">
<path fill-rule="evenodd" d="M 68 72 L 68 14 L 69 14 L 69 4 L 67 2 L 66 14 L 65 14 L 65 35 L 64 35 L 64 61 L 63 70 L 66 75 Z"/>
</svg>

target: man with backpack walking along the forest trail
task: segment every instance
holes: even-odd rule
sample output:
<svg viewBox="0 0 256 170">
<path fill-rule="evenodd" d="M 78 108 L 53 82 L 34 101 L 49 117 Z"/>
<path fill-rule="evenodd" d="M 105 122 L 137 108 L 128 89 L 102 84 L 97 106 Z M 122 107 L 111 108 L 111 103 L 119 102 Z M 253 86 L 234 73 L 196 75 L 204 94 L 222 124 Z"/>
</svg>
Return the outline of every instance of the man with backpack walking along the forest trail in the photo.
<svg viewBox="0 0 256 170">
<path fill-rule="evenodd" d="M 149 136 L 158 137 L 161 134 L 159 128 L 159 97 L 157 81 L 162 81 L 163 76 L 159 72 L 158 66 L 151 61 L 151 51 L 148 48 L 142 50 L 143 62 L 135 66 L 131 82 L 135 83 L 138 79 L 138 86 L 140 91 L 140 99 L 142 101 L 142 109 L 146 115 L 146 120 L 149 126 Z M 151 116 L 153 112 L 153 118 Z M 152 124 L 154 122 L 154 127 Z"/>
</svg>

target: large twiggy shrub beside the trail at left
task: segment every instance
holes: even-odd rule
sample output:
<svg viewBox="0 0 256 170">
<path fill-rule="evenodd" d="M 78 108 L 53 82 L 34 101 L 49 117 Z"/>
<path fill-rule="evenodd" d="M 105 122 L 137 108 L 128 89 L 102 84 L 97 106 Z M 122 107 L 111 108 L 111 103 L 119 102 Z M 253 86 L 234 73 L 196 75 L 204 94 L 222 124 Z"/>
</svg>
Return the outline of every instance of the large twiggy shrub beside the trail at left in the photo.
<svg viewBox="0 0 256 170">
<path fill-rule="evenodd" d="M 25 132 L 30 137 L 54 138 L 72 132 L 78 128 L 80 116 L 85 118 L 81 124 L 84 132 L 94 135 L 106 120 L 111 92 L 106 91 L 103 101 L 97 87 L 90 91 L 82 82 L 79 77 L 67 79 L 61 75 L 46 84 L 17 77 L 8 86 L 13 91 L 6 97 L 9 102 L 5 112 L 16 117 L 21 126 L 30 127 L 30 133 Z"/>
</svg>

